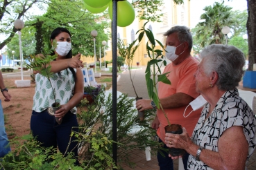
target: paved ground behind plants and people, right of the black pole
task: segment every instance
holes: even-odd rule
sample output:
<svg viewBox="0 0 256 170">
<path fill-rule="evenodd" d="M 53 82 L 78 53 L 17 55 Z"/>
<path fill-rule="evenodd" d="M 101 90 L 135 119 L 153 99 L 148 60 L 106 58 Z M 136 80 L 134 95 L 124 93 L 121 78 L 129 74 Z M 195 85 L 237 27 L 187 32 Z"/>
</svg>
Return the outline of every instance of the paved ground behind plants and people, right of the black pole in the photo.
<svg viewBox="0 0 256 170">
<path fill-rule="evenodd" d="M 145 80 L 145 67 L 142 67 L 140 70 L 133 70 L 133 82 L 136 87 L 137 95 L 139 97 L 143 97 L 144 99 L 148 99 L 147 91 L 146 91 L 146 80 Z M 130 76 L 128 74 L 128 71 L 121 73 L 121 77 L 119 79 L 119 82 L 117 83 L 117 91 L 121 91 L 122 93 L 127 93 L 129 97 L 136 97 L 135 92 L 133 90 L 133 86 L 130 82 Z M 239 86 L 241 87 L 241 84 Z M 250 89 L 243 89 L 248 90 Z M 131 157 L 133 158 L 134 162 L 136 162 L 136 167 L 134 169 L 140 170 L 140 169 L 147 169 L 147 170 L 156 170 L 159 169 L 157 164 L 157 158 L 155 155 L 151 155 L 151 160 L 146 161 L 146 155 L 144 151 L 135 151 L 133 153 L 130 153 Z M 131 168 L 124 166 L 125 170 L 129 170 Z M 247 168 L 249 170 L 255 170 L 256 169 L 256 151 L 253 153 L 252 157 L 250 158 Z M 174 161 L 174 169 L 178 170 L 178 160 Z"/>
</svg>

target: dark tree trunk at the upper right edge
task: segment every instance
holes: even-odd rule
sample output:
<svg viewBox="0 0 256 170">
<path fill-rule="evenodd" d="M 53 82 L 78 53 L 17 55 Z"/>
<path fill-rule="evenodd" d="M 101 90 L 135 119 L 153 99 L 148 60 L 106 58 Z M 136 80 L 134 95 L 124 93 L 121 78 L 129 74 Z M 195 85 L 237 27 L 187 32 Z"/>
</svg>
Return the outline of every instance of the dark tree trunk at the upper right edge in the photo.
<svg viewBox="0 0 256 170">
<path fill-rule="evenodd" d="M 256 63 L 256 0 L 247 0 L 248 20 L 246 23 L 248 34 L 248 70 L 253 70 Z"/>
</svg>

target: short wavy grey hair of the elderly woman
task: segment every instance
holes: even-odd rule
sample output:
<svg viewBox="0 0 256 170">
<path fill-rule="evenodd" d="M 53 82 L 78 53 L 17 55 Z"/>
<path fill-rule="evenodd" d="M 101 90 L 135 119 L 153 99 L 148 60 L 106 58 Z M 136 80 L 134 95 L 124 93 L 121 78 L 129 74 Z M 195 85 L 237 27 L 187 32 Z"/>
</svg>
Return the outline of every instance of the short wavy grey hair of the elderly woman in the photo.
<svg viewBox="0 0 256 170">
<path fill-rule="evenodd" d="M 234 46 L 212 44 L 203 49 L 200 58 L 204 59 L 205 74 L 210 76 L 216 71 L 219 79 L 216 86 L 222 91 L 229 91 L 239 86 L 244 75 L 244 53 Z"/>
</svg>

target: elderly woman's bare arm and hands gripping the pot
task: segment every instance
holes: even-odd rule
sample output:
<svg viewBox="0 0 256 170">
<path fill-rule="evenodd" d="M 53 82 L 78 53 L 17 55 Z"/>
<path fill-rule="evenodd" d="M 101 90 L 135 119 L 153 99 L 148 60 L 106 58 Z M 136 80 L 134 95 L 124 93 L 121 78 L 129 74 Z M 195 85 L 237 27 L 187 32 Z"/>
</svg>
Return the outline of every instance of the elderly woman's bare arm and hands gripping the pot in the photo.
<svg viewBox="0 0 256 170">
<path fill-rule="evenodd" d="M 169 134 L 171 133 L 168 133 L 168 135 Z M 199 146 L 192 142 L 185 128 L 183 128 L 182 135 L 183 138 L 186 135 L 187 142 L 184 142 L 184 140 L 178 140 L 178 135 L 174 135 L 174 138 L 171 137 L 174 144 L 170 145 L 166 140 L 167 147 L 185 149 L 189 154 L 196 157 Z M 180 136 L 181 138 L 182 135 Z M 232 126 L 226 129 L 223 132 L 223 135 L 219 138 L 218 147 L 219 152 L 203 149 L 200 153 L 199 159 L 212 169 L 245 169 L 248 155 L 248 142 L 244 136 L 242 126 Z M 176 159 L 178 157 L 172 158 Z"/>
</svg>

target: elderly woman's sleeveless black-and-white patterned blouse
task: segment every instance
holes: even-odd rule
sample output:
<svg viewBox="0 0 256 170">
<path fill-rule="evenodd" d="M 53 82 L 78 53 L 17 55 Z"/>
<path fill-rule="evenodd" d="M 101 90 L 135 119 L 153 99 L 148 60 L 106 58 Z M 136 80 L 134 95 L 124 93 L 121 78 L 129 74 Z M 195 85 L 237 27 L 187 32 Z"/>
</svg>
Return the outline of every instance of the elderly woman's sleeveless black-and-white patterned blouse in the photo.
<svg viewBox="0 0 256 170">
<path fill-rule="evenodd" d="M 252 109 L 239 97 L 237 89 L 226 91 L 217 102 L 210 117 L 205 120 L 209 109 L 210 104 L 206 104 L 203 108 L 191 137 L 194 143 L 205 149 L 218 152 L 218 141 L 223 132 L 231 126 L 243 126 L 244 135 L 249 144 L 248 161 L 256 144 L 256 118 Z M 202 161 L 196 161 L 193 155 L 189 155 L 188 169 L 212 168 Z"/>
</svg>

